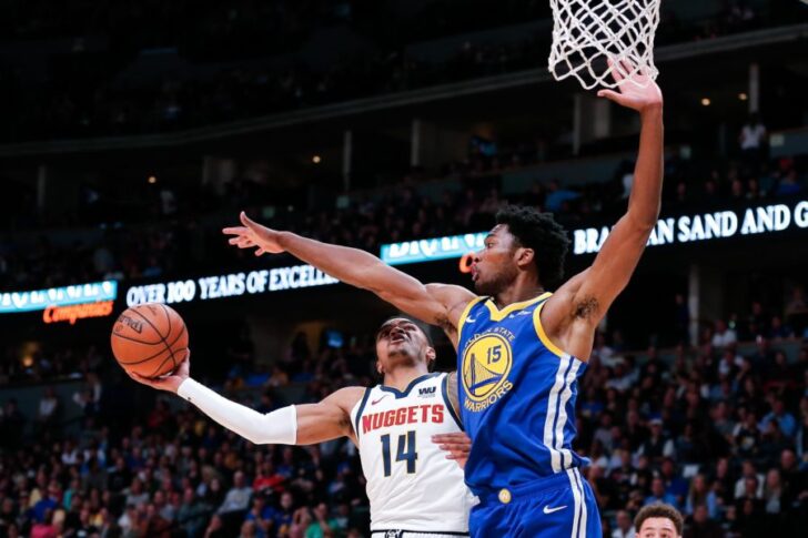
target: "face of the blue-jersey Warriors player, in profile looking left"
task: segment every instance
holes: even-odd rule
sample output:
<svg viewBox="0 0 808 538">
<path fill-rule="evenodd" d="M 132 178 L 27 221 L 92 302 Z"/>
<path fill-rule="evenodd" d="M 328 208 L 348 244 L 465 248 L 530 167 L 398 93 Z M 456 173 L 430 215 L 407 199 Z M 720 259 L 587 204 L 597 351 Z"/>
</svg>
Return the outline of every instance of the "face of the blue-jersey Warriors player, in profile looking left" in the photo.
<svg viewBox="0 0 808 538">
<path fill-rule="evenodd" d="M 516 278 L 516 238 L 504 224 L 497 224 L 485 237 L 485 246 L 474 255 L 472 281 L 481 295 L 497 295 Z"/>
</svg>

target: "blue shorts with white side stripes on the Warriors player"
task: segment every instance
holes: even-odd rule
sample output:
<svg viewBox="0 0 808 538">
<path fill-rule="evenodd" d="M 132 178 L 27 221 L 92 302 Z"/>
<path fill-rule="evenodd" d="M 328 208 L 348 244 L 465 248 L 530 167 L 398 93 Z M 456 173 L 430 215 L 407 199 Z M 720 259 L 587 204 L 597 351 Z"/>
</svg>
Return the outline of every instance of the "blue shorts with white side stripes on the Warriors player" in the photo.
<svg viewBox="0 0 808 538">
<path fill-rule="evenodd" d="M 542 480 L 479 495 L 472 509 L 472 538 L 600 538 L 600 512 L 577 468 Z"/>
</svg>

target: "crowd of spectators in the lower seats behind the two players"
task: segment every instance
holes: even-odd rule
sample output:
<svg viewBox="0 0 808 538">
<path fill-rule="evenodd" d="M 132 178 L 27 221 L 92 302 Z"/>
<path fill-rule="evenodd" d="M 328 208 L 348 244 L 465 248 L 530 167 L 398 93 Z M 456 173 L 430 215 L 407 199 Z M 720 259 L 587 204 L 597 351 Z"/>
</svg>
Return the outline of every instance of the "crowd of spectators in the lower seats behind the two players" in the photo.
<svg viewBox="0 0 808 538">
<path fill-rule="evenodd" d="M 795 293 L 787 308 L 805 314 L 800 297 Z M 592 460 L 586 476 L 605 536 L 633 536 L 633 515 L 657 500 L 685 514 L 686 538 L 797 536 L 805 528 L 808 345 L 786 361 L 784 346 L 799 341 L 778 316 L 760 312 L 753 305 L 741 318 L 716 321 L 669 361 L 655 348 L 625 349 L 619 334 L 598 335 L 580 379 L 576 450 Z M 753 334 L 753 351 L 738 347 Z M 269 367 L 250 356 L 208 382 L 262 412 L 291 403 L 289 387 L 315 402 L 376 383 L 372 337 L 323 338 L 320 348 L 306 342 L 297 335 Z M 84 362 L 83 400 L 91 405 L 82 407 L 78 432 L 64 434 L 50 417 L 81 397 L 59 402 L 42 385 L 37 417 L 6 402 L 0 536 L 368 536 L 351 443 L 254 446 L 179 400 L 133 387 L 114 375 L 111 359 L 92 365 Z M 125 390 L 141 390 L 150 404 L 108 399 Z"/>
</svg>

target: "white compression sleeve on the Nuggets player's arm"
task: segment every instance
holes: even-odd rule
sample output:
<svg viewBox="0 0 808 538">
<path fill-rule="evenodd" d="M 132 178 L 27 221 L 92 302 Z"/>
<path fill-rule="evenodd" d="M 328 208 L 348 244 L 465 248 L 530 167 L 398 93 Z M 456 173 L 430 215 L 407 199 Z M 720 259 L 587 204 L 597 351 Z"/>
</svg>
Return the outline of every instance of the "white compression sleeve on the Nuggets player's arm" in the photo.
<svg viewBox="0 0 808 538">
<path fill-rule="evenodd" d="M 294 445 L 297 440 L 297 412 L 293 405 L 263 415 L 229 400 L 190 377 L 180 384 L 176 394 L 256 445 Z"/>
</svg>

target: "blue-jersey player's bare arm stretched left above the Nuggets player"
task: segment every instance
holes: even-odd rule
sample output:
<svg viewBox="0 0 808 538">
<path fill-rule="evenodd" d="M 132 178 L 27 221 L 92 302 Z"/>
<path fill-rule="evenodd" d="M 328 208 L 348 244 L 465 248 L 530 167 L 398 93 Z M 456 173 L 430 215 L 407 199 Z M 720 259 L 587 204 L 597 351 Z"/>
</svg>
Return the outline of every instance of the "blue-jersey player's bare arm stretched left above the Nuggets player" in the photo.
<svg viewBox="0 0 808 538">
<path fill-rule="evenodd" d="M 358 248 L 331 245 L 262 226 L 241 213 L 243 226 L 225 227 L 233 235 L 230 244 L 256 248 L 255 255 L 289 252 L 352 286 L 367 290 L 422 322 L 437 325 L 456 339 L 456 327 L 463 308 L 474 294 L 461 286 L 422 284 L 412 276 L 383 263 Z"/>
</svg>

